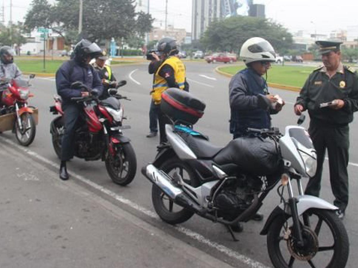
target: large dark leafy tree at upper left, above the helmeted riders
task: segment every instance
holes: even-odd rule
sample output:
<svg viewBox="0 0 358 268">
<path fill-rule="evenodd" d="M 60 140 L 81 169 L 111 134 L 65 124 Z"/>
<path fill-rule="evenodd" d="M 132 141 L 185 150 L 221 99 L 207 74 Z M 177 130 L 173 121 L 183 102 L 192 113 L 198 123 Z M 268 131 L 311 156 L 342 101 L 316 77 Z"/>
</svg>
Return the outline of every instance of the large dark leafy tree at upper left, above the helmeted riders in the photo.
<svg viewBox="0 0 358 268">
<path fill-rule="evenodd" d="M 151 15 L 136 13 L 132 0 L 86 0 L 83 1 L 82 33 L 79 38 L 91 41 L 110 40 L 112 37 L 129 38 L 133 33 L 143 36 L 150 31 Z M 37 27 L 50 28 L 64 35 L 78 29 L 78 1 L 33 0 L 26 14 L 25 25 L 29 30 Z"/>
</svg>

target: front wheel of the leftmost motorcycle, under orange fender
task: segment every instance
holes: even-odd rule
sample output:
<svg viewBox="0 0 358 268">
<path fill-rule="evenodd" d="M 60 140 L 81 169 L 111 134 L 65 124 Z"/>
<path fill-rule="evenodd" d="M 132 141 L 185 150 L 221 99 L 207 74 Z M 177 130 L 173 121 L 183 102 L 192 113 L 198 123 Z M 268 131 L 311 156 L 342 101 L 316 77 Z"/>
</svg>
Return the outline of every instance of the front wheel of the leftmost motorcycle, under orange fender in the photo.
<svg viewBox="0 0 358 268">
<path fill-rule="evenodd" d="M 23 113 L 20 116 L 21 124 L 24 130 L 20 130 L 17 118 L 15 118 L 15 136 L 19 144 L 29 146 L 35 139 L 36 124 L 35 119 L 30 113 Z"/>
</svg>

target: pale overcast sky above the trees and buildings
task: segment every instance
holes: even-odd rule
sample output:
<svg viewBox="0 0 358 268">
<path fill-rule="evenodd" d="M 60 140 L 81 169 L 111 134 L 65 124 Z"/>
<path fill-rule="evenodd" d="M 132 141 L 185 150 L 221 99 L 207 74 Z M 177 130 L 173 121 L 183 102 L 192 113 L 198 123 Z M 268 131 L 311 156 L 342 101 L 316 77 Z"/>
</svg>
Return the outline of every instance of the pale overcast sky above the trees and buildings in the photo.
<svg viewBox="0 0 358 268">
<path fill-rule="evenodd" d="M 156 19 L 155 26 L 161 25 L 164 28 L 165 0 L 149 1 L 150 13 Z M 32 0 L 12 2 L 13 21 L 23 21 Z M 49 2 L 53 3 L 54 0 Z M 7 22 L 10 19 L 10 0 L 0 0 L 0 4 L 3 3 Z M 142 0 L 142 3 L 146 5 L 147 0 Z M 292 33 L 297 30 L 327 33 L 331 30 L 346 30 L 348 26 L 358 26 L 358 0 L 254 0 L 254 3 L 265 4 L 266 18 L 281 23 Z M 168 24 L 191 31 L 191 14 L 192 0 L 168 0 Z"/>
</svg>

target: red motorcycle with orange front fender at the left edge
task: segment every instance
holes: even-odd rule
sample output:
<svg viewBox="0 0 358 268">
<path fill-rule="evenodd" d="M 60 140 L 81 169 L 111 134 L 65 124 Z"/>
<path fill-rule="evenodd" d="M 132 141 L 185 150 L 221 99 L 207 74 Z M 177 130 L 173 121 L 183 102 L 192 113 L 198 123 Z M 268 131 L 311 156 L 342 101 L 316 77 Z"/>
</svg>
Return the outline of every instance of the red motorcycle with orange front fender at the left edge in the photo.
<svg viewBox="0 0 358 268">
<path fill-rule="evenodd" d="M 34 74 L 30 75 L 30 79 L 34 77 Z M 33 142 L 38 123 L 38 109 L 27 103 L 33 96 L 29 87 L 29 80 L 5 79 L 0 82 L 0 131 L 12 130 L 23 146 Z"/>
</svg>

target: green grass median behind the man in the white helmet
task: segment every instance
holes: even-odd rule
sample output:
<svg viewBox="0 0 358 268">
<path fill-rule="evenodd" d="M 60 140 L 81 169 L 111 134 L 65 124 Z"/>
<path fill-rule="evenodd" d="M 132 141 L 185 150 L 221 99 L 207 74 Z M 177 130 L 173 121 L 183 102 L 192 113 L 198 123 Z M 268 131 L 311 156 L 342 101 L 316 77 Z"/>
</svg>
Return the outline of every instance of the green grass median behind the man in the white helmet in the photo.
<svg viewBox="0 0 358 268">
<path fill-rule="evenodd" d="M 219 68 L 220 71 L 229 74 L 236 74 L 245 68 L 245 65 L 235 65 Z M 267 82 L 287 86 L 302 87 L 308 75 L 317 67 L 315 66 L 294 66 L 272 64 L 267 71 Z"/>
</svg>

